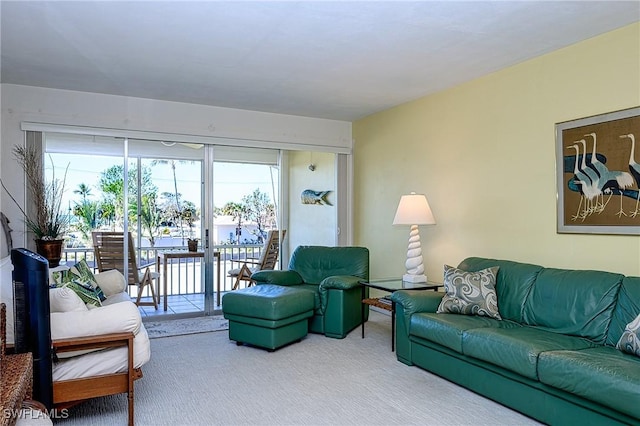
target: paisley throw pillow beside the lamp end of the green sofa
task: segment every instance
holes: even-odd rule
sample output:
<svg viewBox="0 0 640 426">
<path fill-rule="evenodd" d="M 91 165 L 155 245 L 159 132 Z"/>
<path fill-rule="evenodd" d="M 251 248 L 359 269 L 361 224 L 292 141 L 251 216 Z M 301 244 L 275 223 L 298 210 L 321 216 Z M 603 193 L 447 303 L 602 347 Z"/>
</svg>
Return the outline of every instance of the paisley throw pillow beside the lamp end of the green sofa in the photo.
<svg viewBox="0 0 640 426">
<path fill-rule="evenodd" d="M 494 266 L 477 272 L 467 272 L 445 265 L 446 294 L 436 312 L 480 315 L 501 320 L 496 294 L 498 268 Z"/>
</svg>

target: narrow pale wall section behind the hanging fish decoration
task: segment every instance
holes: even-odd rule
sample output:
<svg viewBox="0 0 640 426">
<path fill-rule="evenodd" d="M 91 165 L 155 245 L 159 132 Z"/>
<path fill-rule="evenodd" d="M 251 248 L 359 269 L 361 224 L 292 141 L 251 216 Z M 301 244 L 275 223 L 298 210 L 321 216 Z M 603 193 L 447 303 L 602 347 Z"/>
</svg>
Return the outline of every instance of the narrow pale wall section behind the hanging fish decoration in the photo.
<svg viewBox="0 0 640 426">
<path fill-rule="evenodd" d="M 315 170 L 309 170 L 313 160 Z M 289 155 L 289 229 L 290 252 L 299 245 L 337 244 L 336 156 L 319 152 L 293 152 Z M 306 189 L 331 191 L 327 200 L 333 204 L 302 204 Z M 286 262 L 285 262 L 286 264 Z"/>
</svg>

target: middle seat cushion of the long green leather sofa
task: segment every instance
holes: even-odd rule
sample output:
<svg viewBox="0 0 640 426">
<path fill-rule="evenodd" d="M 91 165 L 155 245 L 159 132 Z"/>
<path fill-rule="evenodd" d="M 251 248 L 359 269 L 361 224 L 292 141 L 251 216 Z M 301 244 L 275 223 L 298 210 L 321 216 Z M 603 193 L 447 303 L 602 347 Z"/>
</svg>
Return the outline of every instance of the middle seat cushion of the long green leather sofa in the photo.
<svg viewBox="0 0 640 426">
<path fill-rule="evenodd" d="M 538 380 L 538 356 L 542 352 L 595 347 L 587 339 L 534 327 L 476 328 L 462 336 L 462 352 L 522 376 Z"/>
</svg>

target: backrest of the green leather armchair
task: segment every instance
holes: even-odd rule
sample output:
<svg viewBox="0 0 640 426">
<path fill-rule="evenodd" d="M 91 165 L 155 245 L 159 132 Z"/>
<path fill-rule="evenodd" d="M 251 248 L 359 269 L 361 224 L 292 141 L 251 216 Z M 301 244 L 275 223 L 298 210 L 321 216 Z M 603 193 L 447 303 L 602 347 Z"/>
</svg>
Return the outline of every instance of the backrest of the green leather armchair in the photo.
<svg viewBox="0 0 640 426">
<path fill-rule="evenodd" d="M 320 284 L 334 275 L 369 279 L 369 249 L 366 247 L 299 246 L 291 255 L 289 269 L 305 283 Z"/>
</svg>

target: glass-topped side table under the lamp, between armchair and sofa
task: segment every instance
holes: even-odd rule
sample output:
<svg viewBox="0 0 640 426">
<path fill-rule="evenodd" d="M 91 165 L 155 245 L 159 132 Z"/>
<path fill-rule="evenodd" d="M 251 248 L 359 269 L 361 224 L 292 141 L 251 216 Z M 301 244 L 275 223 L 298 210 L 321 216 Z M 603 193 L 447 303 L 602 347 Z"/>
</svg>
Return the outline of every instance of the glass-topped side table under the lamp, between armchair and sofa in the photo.
<svg viewBox="0 0 640 426">
<path fill-rule="evenodd" d="M 443 284 L 426 282 L 426 283 L 408 283 L 402 281 L 399 278 L 387 278 L 387 279 L 379 279 L 379 280 L 371 280 L 371 281 L 360 281 L 359 282 L 362 288 L 362 313 L 361 313 L 361 321 L 362 321 L 362 338 L 364 339 L 364 317 L 365 317 L 365 306 L 375 306 L 380 309 L 384 309 L 386 311 L 391 312 L 391 352 L 395 351 L 395 343 L 396 343 L 396 303 L 387 297 L 367 297 L 366 291 L 367 288 L 374 288 L 376 290 L 386 291 L 388 293 L 393 293 L 396 290 L 433 290 L 437 291 L 438 288 L 444 287 Z"/>
</svg>

